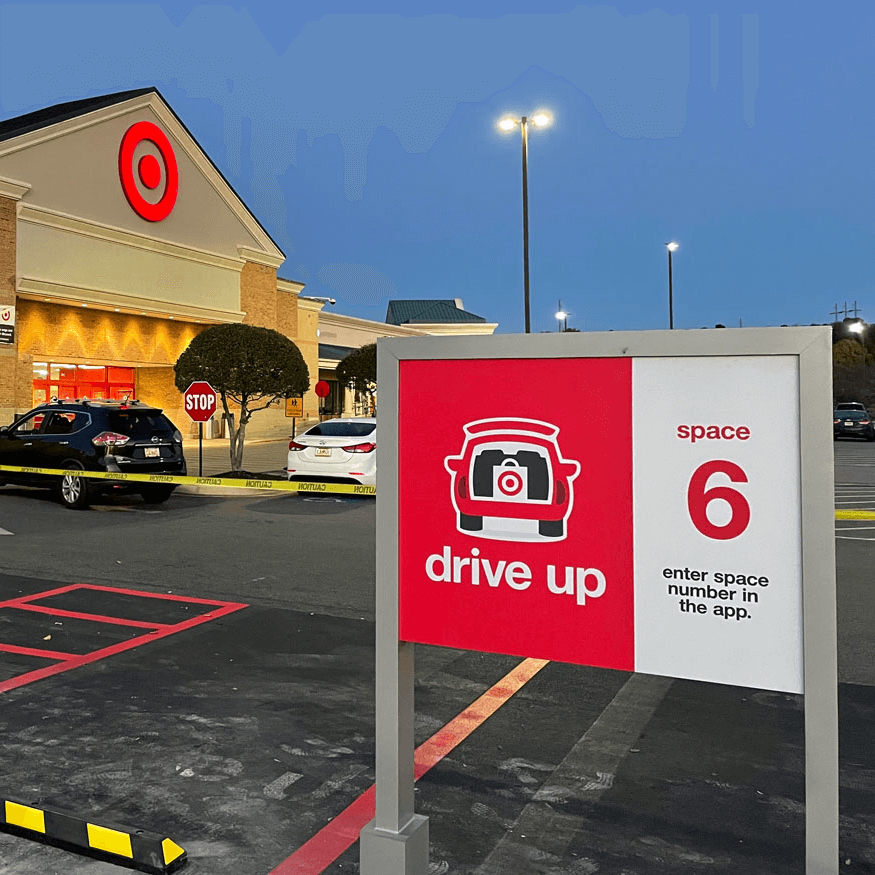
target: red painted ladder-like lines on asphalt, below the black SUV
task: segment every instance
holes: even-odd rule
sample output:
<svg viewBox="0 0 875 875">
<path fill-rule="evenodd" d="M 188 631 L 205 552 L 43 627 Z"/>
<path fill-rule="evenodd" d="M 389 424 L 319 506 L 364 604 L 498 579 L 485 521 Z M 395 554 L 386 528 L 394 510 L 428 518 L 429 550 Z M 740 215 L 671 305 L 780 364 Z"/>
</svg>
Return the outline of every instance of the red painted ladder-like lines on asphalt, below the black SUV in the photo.
<svg viewBox="0 0 875 875">
<path fill-rule="evenodd" d="M 31 602 L 51 598 L 52 596 L 62 595 L 76 590 L 91 590 L 96 592 L 107 592 L 121 595 L 136 596 L 144 599 L 163 599 L 164 601 L 185 602 L 186 604 L 205 605 L 212 610 L 205 611 L 194 617 L 189 617 L 179 623 L 144 623 L 140 620 L 126 620 L 124 617 L 110 617 L 102 614 L 87 614 L 76 611 L 67 611 L 63 609 L 53 610 L 49 605 L 33 605 Z M 52 675 L 60 674 L 61 672 L 70 671 L 74 668 L 79 668 L 82 665 L 88 665 L 92 662 L 97 662 L 100 659 L 105 659 L 108 656 L 114 656 L 117 653 L 123 653 L 126 650 L 132 650 L 135 647 L 140 647 L 143 644 L 148 644 L 151 641 L 157 641 L 159 638 L 166 638 L 169 635 L 175 635 L 177 632 L 183 632 L 186 629 L 191 629 L 194 626 L 199 626 L 202 623 L 209 623 L 213 620 L 218 620 L 226 614 L 231 614 L 234 611 L 239 611 L 247 605 L 241 602 L 223 602 L 213 599 L 202 599 L 182 595 L 174 595 L 173 593 L 154 593 L 142 592 L 135 589 L 118 589 L 112 586 L 98 586 L 97 584 L 74 583 L 69 586 L 61 586 L 56 589 L 44 590 L 42 592 L 31 593 L 27 596 L 9 599 L 5 602 L 0 602 L 0 609 L 13 608 L 18 610 L 36 610 L 39 613 L 54 614 L 63 617 L 75 617 L 85 621 L 96 623 L 113 623 L 122 626 L 131 626 L 132 628 L 148 630 L 145 634 L 138 635 L 136 638 L 131 638 L 127 641 L 120 641 L 108 647 L 101 647 L 99 650 L 92 650 L 90 653 L 71 654 L 61 653 L 54 650 L 36 650 L 30 647 L 19 647 L 14 644 L 3 644 L 0 642 L 0 651 L 7 653 L 16 653 L 24 656 L 36 656 L 43 659 L 55 660 L 52 665 L 44 666 L 43 668 L 35 669 L 34 671 L 24 672 L 13 678 L 5 681 L 0 681 L 0 693 L 5 693 L 8 690 L 14 690 L 17 687 L 25 686 L 26 684 L 34 683 L 34 681 L 42 680 L 43 678 L 51 677 Z"/>
</svg>

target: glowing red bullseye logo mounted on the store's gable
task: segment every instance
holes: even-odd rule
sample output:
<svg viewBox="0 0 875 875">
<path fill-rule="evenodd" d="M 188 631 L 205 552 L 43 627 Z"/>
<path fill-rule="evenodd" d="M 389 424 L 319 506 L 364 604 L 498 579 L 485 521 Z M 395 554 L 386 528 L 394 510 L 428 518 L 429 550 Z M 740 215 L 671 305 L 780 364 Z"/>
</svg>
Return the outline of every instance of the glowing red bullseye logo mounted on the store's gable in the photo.
<svg viewBox="0 0 875 875">
<path fill-rule="evenodd" d="M 147 201 L 137 187 L 138 179 L 140 184 L 150 191 L 154 191 L 161 184 L 161 164 L 152 154 L 143 155 L 136 162 L 135 172 L 134 151 L 143 141 L 152 143 L 164 162 L 164 194 L 154 204 Z M 149 222 L 166 219 L 176 204 L 176 195 L 179 192 L 179 170 L 173 147 L 164 132 L 152 122 L 137 122 L 131 125 L 122 137 L 118 165 L 122 191 L 134 212 Z"/>
</svg>

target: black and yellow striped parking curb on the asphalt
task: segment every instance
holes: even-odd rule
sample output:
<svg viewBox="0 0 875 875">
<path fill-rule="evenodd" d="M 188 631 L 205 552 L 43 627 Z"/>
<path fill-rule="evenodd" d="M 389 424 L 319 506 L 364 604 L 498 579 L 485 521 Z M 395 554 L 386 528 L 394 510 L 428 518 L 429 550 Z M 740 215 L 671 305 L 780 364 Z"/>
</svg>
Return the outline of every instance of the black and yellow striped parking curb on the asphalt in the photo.
<svg viewBox="0 0 875 875">
<path fill-rule="evenodd" d="M 158 833 L 94 823 L 69 811 L 9 798 L 4 798 L 0 829 L 153 875 L 174 872 L 187 860 L 176 842 Z"/>
</svg>

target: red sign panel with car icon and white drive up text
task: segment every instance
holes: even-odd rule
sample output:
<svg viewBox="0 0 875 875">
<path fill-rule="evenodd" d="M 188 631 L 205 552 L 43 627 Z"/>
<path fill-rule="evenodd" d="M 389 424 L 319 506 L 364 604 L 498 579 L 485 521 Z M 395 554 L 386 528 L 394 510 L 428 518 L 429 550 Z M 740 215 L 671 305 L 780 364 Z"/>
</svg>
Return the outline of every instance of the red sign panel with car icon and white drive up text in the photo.
<svg viewBox="0 0 875 875">
<path fill-rule="evenodd" d="M 633 670 L 631 394 L 628 358 L 399 362 L 402 640 Z"/>
</svg>

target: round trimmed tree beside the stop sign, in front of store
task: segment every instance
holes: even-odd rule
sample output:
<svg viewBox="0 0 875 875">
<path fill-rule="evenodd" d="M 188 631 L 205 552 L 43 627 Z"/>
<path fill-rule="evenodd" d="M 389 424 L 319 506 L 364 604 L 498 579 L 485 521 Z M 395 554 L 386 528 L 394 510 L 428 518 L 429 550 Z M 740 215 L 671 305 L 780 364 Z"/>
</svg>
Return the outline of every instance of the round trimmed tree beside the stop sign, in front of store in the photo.
<svg viewBox="0 0 875 875">
<path fill-rule="evenodd" d="M 176 388 L 184 392 L 206 380 L 222 401 L 229 424 L 231 470 L 243 470 L 243 441 L 252 414 L 310 388 L 301 351 L 283 334 L 255 325 L 214 325 L 188 345 L 173 367 Z M 230 417 L 229 399 L 240 408 Z"/>
</svg>

